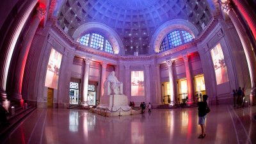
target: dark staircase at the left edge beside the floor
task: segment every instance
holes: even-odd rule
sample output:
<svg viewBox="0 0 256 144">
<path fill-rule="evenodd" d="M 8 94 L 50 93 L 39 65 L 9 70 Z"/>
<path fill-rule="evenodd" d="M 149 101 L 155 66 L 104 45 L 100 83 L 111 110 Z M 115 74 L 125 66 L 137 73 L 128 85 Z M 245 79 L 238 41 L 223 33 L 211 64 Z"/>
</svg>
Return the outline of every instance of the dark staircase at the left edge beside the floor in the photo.
<svg viewBox="0 0 256 144">
<path fill-rule="evenodd" d="M 10 115 L 10 112 L 9 112 L 9 115 L 7 116 L 7 120 L 10 123 L 10 125 L 4 125 L 0 123 L 0 136 L 2 136 L 6 131 L 8 131 L 8 129 L 13 127 L 13 125 L 17 124 L 20 120 L 22 120 L 22 118 L 24 118 L 25 116 L 27 116 L 29 113 L 31 113 L 36 109 L 35 106 L 31 106 L 30 104 L 28 104 L 28 108 L 25 109 L 24 106 L 20 106 L 20 104 L 17 104 L 13 101 L 11 101 L 10 107 L 15 108 L 15 114 Z"/>
</svg>

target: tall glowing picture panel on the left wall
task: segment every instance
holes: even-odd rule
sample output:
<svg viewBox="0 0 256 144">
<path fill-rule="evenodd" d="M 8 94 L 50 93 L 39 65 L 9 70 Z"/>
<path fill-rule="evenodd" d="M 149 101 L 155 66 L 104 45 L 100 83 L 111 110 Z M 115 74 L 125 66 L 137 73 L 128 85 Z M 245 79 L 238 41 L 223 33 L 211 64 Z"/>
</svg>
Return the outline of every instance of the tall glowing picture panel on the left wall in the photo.
<svg viewBox="0 0 256 144">
<path fill-rule="evenodd" d="M 54 49 L 51 50 L 45 77 L 45 86 L 48 88 L 58 89 L 61 58 L 62 55 L 59 52 Z"/>
</svg>

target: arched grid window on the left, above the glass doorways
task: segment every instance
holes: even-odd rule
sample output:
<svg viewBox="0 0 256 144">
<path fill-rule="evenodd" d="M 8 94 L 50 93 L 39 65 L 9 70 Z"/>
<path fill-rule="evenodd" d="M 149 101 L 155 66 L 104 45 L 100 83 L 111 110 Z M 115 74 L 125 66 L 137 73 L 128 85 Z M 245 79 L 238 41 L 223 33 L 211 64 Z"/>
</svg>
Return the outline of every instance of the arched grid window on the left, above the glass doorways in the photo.
<svg viewBox="0 0 256 144">
<path fill-rule="evenodd" d="M 104 36 L 97 33 L 87 33 L 86 35 L 81 36 L 78 42 L 81 45 L 90 45 L 90 47 L 99 49 L 100 51 L 106 51 L 114 54 L 113 47 L 110 42 Z"/>
</svg>

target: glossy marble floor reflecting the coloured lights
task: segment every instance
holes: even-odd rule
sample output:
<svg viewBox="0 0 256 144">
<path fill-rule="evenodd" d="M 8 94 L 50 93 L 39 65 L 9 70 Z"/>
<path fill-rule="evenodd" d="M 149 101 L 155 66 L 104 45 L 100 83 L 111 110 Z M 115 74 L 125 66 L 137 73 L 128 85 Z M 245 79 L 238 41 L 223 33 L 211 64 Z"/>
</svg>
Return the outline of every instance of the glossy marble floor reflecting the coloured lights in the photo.
<svg viewBox="0 0 256 144">
<path fill-rule="evenodd" d="M 1 136 L 0 143 L 256 143 L 256 106 L 210 108 L 203 139 L 198 139 L 197 108 L 115 117 L 87 110 L 36 109 Z"/>
</svg>

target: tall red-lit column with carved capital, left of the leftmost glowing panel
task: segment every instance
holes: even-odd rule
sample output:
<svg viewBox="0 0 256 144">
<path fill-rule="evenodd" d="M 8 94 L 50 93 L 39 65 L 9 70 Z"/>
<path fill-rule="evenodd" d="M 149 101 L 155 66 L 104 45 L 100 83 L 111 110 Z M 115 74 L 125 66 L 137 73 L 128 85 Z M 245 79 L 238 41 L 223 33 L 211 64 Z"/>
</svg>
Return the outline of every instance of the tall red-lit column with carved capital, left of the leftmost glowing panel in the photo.
<svg viewBox="0 0 256 144">
<path fill-rule="evenodd" d="M 23 80 L 26 60 L 28 58 L 28 52 L 29 52 L 32 40 L 35 36 L 36 29 L 38 28 L 40 21 L 44 19 L 45 15 L 46 15 L 46 12 L 44 9 L 37 8 L 36 17 L 33 20 L 31 26 L 29 27 L 28 32 L 26 34 L 26 38 L 24 39 L 24 42 L 22 44 L 22 49 L 20 49 L 18 60 L 15 67 L 13 95 L 10 96 L 12 97 L 12 99 L 20 100 L 21 102 L 23 101 L 22 95 L 21 95 L 22 80 Z"/>
</svg>

